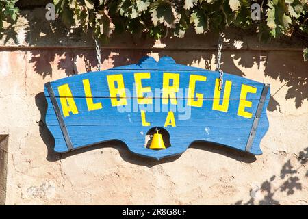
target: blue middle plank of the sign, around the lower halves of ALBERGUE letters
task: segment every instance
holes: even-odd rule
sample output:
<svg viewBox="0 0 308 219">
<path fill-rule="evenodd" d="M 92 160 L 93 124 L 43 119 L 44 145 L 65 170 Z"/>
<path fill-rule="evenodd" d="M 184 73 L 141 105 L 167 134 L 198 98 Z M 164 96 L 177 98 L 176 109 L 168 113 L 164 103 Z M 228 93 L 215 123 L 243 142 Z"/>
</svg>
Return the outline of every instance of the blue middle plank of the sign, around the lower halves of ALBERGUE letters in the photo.
<svg viewBox="0 0 308 219">
<path fill-rule="evenodd" d="M 59 97 L 56 98 L 57 102 L 60 103 Z M 163 109 L 163 107 L 168 108 L 164 112 L 159 111 L 155 112 L 155 106 L 149 105 L 148 107 L 144 107 L 144 110 L 148 110 L 145 112 L 146 120 L 149 121 L 162 121 L 164 122 L 166 119 L 166 115 L 169 110 L 175 108 L 173 110 L 175 114 L 175 118 L 177 119 L 179 116 L 184 117 L 183 120 L 177 120 L 177 125 L 183 126 L 194 126 L 194 125 L 204 125 L 205 120 L 208 123 L 215 123 L 215 121 L 220 118 L 225 118 L 226 120 L 233 120 L 235 123 L 248 123 L 252 125 L 253 120 L 243 118 L 242 116 L 238 116 L 238 105 L 240 100 L 229 100 L 228 112 L 221 112 L 218 110 L 213 110 L 213 100 L 204 100 L 203 107 L 189 107 L 186 105 L 187 100 L 183 101 L 183 106 L 175 106 L 175 105 L 162 105 L 162 102 L 159 101 L 159 109 Z M 255 112 L 257 110 L 257 105 L 259 100 L 257 99 L 248 99 L 252 103 L 251 108 L 246 108 L 246 112 L 252 113 L 252 118 L 255 116 Z M 137 103 L 131 103 L 131 106 L 127 105 L 127 110 L 131 109 L 130 112 L 122 112 L 122 107 L 112 107 L 110 99 L 102 99 L 97 98 L 94 99 L 95 103 L 102 103 L 102 108 L 99 110 L 89 111 L 86 105 L 86 98 L 75 98 L 75 103 L 78 109 L 78 114 L 70 114 L 70 116 L 64 117 L 66 125 L 102 125 L 112 123 L 114 125 L 135 125 L 139 126 L 141 124 L 141 116 L 140 110 L 142 110 L 142 105 L 138 105 Z M 137 102 L 136 99 L 131 100 L 131 102 Z M 140 107 L 137 112 L 133 112 L 136 110 L 136 107 Z M 47 110 L 47 117 L 53 115 L 53 106 L 49 104 L 49 110 Z M 149 112 L 149 110 L 153 110 L 153 112 Z M 185 118 L 185 114 L 187 114 L 188 118 Z M 189 115 L 190 114 L 190 115 Z M 196 115 L 196 116 L 195 116 Z M 86 118 L 86 119 L 82 119 Z M 98 119 L 99 118 L 99 119 Z M 129 121 L 133 121 L 130 123 Z M 124 122 L 127 122 L 124 124 Z M 58 125 L 57 118 L 50 117 L 47 121 L 47 125 Z M 162 123 L 164 125 L 164 123 Z M 234 124 L 225 124 L 226 126 L 233 127 Z"/>
</svg>

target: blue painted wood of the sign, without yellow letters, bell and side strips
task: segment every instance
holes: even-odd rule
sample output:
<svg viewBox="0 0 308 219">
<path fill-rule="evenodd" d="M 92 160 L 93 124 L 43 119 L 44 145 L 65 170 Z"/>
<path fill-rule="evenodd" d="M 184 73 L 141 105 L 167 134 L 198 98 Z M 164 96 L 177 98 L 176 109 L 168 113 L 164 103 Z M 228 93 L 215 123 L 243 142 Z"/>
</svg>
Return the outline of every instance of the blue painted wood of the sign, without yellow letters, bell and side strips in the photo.
<svg viewBox="0 0 308 219">
<path fill-rule="evenodd" d="M 168 111 L 165 112 L 146 112 L 146 121 L 151 123 L 151 126 L 142 126 L 140 110 L 142 107 L 153 109 L 153 105 L 138 105 L 136 100 L 136 92 L 134 88 L 134 73 L 151 73 L 151 79 L 143 79 L 142 86 L 151 86 L 154 88 L 162 88 L 163 73 L 178 73 L 180 75 L 179 88 L 188 88 L 190 75 L 203 75 L 207 77 L 207 81 L 196 82 L 196 92 L 203 94 L 202 107 L 190 107 L 190 117 L 184 120 L 179 119 L 179 115 L 185 114 L 183 107 L 187 107 L 187 99 L 184 93 L 183 96 L 177 95 L 178 105 L 162 105 L 162 95 L 154 94 L 153 103 L 162 109 L 168 107 L 172 109 L 175 115 L 176 127 L 164 127 Z M 125 88 L 127 88 L 127 103 L 131 107 L 134 105 L 139 107 L 135 112 L 119 112 L 117 107 L 112 107 L 110 101 L 110 92 L 107 84 L 107 75 L 122 74 Z M 64 117 L 64 122 L 68 129 L 70 140 L 73 143 L 73 148 L 78 149 L 83 146 L 89 146 L 104 142 L 106 140 L 122 140 L 127 144 L 128 149 L 133 153 L 161 159 L 183 153 L 190 144 L 196 140 L 206 142 L 214 142 L 224 146 L 229 146 L 241 151 L 245 150 L 249 133 L 255 118 L 255 112 L 259 104 L 261 92 L 264 88 L 264 83 L 252 81 L 224 73 L 224 81 L 232 81 L 232 88 L 229 101 L 228 112 L 220 112 L 212 110 L 215 80 L 219 78 L 219 73 L 201 68 L 194 68 L 181 64 L 176 64 L 170 57 L 162 57 L 159 62 L 156 62 L 151 57 L 144 57 L 139 64 L 128 66 L 120 66 L 100 72 L 84 73 L 73 77 L 66 77 L 57 81 L 51 82 L 53 91 L 57 99 L 57 103 L 61 107 L 58 86 L 65 83 L 68 84 L 74 96 L 74 101 L 79 110 L 78 114 L 70 114 Z M 101 102 L 103 108 L 100 110 L 88 111 L 86 105 L 86 97 L 82 80 L 89 79 L 92 90 L 94 103 Z M 255 94 L 248 93 L 246 99 L 252 102 L 252 107 L 247 107 L 246 111 L 253 114 L 252 118 L 244 118 L 238 116 L 238 105 L 240 102 L 240 90 L 242 84 L 257 88 Z M 128 95 L 128 91 L 131 92 Z M 221 96 L 224 90 L 221 91 Z M 64 140 L 60 125 L 55 116 L 55 111 L 51 104 L 49 93 L 45 87 L 44 94 L 47 98 L 48 110 L 46 116 L 47 127 L 55 138 L 55 151 L 64 153 L 68 151 Z M 112 96 L 115 98 L 115 96 Z M 261 113 L 257 133 L 253 141 L 250 153 L 260 155 L 261 149 L 259 144 L 261 138 L 268 130 L 268 119 L 266 117 L 266 107 L 270 99 L 270 90 L 266 95 L 266 103 Z M 122 107 L 121 107 L 122 108 Z M 153 109 L 154 111 L 154 109 Z M 146 133 L 152 127 L 163 127 L 170 134 L 171 146 L 164 150 L 151 150 L 144 147 Z"/>
</svg>

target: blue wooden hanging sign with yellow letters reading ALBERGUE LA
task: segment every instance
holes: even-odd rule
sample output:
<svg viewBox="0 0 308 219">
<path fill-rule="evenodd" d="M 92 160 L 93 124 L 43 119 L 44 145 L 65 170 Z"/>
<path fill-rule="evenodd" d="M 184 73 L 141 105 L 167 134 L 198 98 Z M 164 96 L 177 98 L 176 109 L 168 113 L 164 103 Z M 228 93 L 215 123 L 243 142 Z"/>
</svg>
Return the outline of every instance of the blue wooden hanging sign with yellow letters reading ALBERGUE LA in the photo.
<svg viewBox="0 0 308 219">
<path fill-rule="evenodd" d="M 45 84 L 44 95 L 59 153 L 121 140 L 161 159 L 201 140 L 260 155 L 268 130 L 268 84 L 224 73 L 220 90 L 217 71 L 171 57 L 59 79 Z"/>
</svg>

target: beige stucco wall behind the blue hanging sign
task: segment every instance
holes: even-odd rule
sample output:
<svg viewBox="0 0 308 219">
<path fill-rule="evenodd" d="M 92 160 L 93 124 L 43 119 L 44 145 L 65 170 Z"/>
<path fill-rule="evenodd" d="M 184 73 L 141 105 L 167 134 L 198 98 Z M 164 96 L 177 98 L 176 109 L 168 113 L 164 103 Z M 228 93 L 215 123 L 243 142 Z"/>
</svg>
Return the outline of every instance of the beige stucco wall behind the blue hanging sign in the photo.
<svg viewBox="0 0 308 219">
<path fill-rule="evenodd" d="M 263 155 L 195 143 L 157 162 L 119 142 L 54 153 L 44 125 L 44 83 L 94 70 L 94 43 L 90 35 L 45 21 L 43 8 L 22 10 L 15 29 L 16 36 L 8 32 L 0 40 L 6 204 L 308 204 L 308 62 L 298 40 L 261 44 L 255 34 L 226 31 L 222 70 L 271 86 Z M 215 34 L 193 31 L 161 42 L 123 34 L 102 47 L 101 63 L 107 69 L 169 55 L 214 70 L 216 45 Z"/>
</svg>

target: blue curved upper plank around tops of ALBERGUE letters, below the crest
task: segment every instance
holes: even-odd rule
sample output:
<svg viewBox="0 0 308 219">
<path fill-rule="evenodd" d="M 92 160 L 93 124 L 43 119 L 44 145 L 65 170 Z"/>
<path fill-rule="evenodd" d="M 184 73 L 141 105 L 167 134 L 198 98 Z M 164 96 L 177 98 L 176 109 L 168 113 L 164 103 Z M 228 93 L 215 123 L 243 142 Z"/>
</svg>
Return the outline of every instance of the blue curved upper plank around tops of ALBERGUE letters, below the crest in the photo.
<svg viewBox="0 0 308 219">
<path fill-rule="evenodd" d="M 102 73 L 94 72 L 94 73 L 84 73 L 81 75 L 68 77 L 66 79 L 61 79 L 59 81 L 51 82 L 53 89 L 55 90 L 55 96 L 60 96 L 57 88 L 62 86 L 63 84 L 68 84 L 70 90 L 73 92 L 73 96 L 75 97 L 84 97 L 86 96 L 84 93 L 84 86 L 82 80 L 88 79 L 90 82 L 92 96 L 93 97 L 116 97 L 110 96 L 110 90 L 107 83 L 107 75 L 123 75 L 123 81 L 125 81 L 125 88 L 131 91 L 129 96 L 136 97 L 136 93 L 133 92 L 136 90 L 135 88 L 135 80 L 134 74 L 135 73 L 144 73 L 150 72 L 151 79 L 143 79 L 142 86 L 144 87 L 151 87 L 151 91 L 155 92 L 155 88 L 162 89 L 163 85 L 163 74 L 164 73 L 175 73 L 179 74 L 179 87 L 183 88 L 183 92 L 185 94 L 185 89 L 188 88 L 190 74 L 194 75 L 202 75 L 207 77 L 207 81 L 196 81 L 196 92 L 203 94 L 204 99 L 213 99 L 214 96 L 214 88 L 215 88 L 215 81 L 219 78 L 219 73 L 216 72 L 209 72 L 206 70 L 202 71 L 194 71 L 194 72 L 185 72 L 183 70 L 122 70 L 115 71 L 115 70 L 105 70 Z M 238 80 L 240 78 L 240 80 Z M 246 84 L 248 86 L 253 86 L 257 88 L 257 92 L 255 94 L 249 94 L 248 99 L 259 99 L 261 96 L 261 91 L 263 88 L 263 84 L 255 81 L 249 81 L 248 79 L 244 79 L 243 77 L 238 77 L 236 75 L 224 75 L 224 81 L 232 81 L 231 86 L 231 94 L 230 99 L 239 99 L 240 97 L 240 90 L 242 88 L 242 84 Z M 154 85 L 154 86 L 153 86 Z M 222 90 L 223 92 L 223 90 Z M 127 93 L 128 96 L 129 92 Z M 162 96 L 155 96 L 151 95 L 155 98 L 162 98 Z"/>
</svg>

